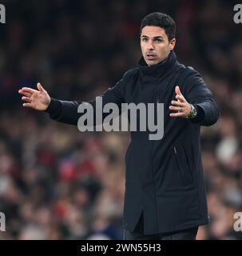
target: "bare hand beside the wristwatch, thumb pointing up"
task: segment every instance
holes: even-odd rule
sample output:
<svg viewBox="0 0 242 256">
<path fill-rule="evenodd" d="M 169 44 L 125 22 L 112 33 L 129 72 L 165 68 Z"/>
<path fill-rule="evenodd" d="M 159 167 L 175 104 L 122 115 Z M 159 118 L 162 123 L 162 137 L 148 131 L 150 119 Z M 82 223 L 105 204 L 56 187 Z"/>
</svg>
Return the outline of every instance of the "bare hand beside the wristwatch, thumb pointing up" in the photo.
<svg viewBox="0 0 242 256">
<path fill-rule="evenodd" d="M 172 106 L 169 106 L 169 109 L 177 111 L 177 113 L 170 113 L 169 115 L 172 118 L 187 118 L 190 115 L 192 108 L 190 104 L 186 101 L 184 96 L 181 94 L 179 86 L 176 86 L 175 92 L 177 94 L 177 101 L 172 101 Z"/>
</svg>

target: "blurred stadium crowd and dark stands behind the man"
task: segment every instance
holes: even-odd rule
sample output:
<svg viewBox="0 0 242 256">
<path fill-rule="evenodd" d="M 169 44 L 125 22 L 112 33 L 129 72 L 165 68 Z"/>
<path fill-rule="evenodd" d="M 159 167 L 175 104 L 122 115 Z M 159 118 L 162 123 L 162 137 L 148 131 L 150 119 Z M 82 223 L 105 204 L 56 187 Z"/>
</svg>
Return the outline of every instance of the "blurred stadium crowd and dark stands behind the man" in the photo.
<svg viewBox="0 0 242 256">
<path fill-rule="evenodd" d="M 242 24 L 237 1 L 7 0 L 0 24 L 1 239 L 121 239 L 129 133 L 81 133 L 23 109 L 18 89 L 37 82 L 54 98 L 88 101 L 141 58 L 141 19 L 177 22 L 179 62 L 200 72 L 220 120 L 202 128 L 211 223 L 197 239 L 241 239 Z"/>
</svg>

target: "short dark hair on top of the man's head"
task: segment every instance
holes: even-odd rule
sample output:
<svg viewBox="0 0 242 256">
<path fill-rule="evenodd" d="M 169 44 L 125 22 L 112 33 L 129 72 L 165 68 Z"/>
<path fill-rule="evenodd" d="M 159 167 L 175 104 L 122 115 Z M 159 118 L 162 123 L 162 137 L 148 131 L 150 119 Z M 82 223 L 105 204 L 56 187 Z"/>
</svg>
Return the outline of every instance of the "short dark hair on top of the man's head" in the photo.
<svg viewBox="0 0 242 256">
<path fill-rule="evenodd" d="M 169 41 L 175 38 L 176 22 L 174 22 L 173 18 L 171 18 L 168 14 L 155 12 L 146 15 L 141 21 L 141 30 L 145 26 L 160 26 L 165 30 L 165 34 L 167 34 Z"/>
</svg>

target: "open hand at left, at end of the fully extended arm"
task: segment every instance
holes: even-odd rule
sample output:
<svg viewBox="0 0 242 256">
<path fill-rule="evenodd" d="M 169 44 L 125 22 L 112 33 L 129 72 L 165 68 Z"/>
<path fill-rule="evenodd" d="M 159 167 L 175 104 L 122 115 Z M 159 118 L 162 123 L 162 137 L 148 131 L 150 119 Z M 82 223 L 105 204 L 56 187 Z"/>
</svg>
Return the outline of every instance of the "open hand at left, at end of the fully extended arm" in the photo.
<svg viewBox="0 0 242 256">
<path fill-rule="evenodd" d="M 25 101 L 22 106 L 44 111 L 50 105 L 50 96 L 39 82 L 37 88 L 38 90 L 22 87 L 18 93 L 23 95 L 22 100 Z"/>
</svg>

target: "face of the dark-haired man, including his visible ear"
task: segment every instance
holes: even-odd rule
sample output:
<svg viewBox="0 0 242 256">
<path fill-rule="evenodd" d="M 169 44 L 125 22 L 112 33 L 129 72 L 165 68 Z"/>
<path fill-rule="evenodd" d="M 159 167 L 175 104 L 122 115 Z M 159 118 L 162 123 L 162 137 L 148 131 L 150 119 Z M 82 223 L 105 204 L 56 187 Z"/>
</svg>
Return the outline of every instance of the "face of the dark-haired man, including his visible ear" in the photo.
<svg viewBox="0 0 242 256">
<path fill-rule="evenodd" d="M 165 30 L 159 26 L 145 26 L 141 30 L 141 51 L 148 66 L 164 61 L 175 44 L 176 39 L 169 42 Z"/>
</svg>

